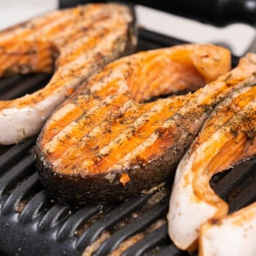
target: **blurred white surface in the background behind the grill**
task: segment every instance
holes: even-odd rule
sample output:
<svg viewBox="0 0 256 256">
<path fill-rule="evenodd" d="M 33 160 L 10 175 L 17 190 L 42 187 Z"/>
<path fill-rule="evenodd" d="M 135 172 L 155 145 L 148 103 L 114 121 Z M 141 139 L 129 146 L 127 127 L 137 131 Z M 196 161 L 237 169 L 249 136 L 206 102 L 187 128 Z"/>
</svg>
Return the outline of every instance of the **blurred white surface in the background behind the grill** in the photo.
<svg viewBox="0 0 256 256">
<path fill-rule="evenodd" d="M 58 8 L 57 0 L 0 0 L 0 29 Z M 226 46 L 236 56 L 242 56 L 255 39 L 255 28 L 233 23 L 222 28 L 179 17 L 167 12 L 135 7 L 138 24 L 162 34 L 188 42 L 210 42 Z"/>
</svg>

